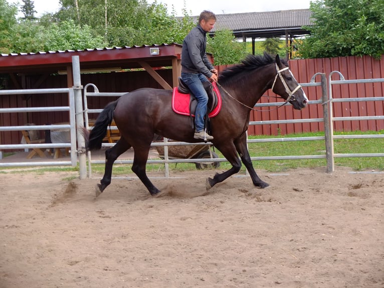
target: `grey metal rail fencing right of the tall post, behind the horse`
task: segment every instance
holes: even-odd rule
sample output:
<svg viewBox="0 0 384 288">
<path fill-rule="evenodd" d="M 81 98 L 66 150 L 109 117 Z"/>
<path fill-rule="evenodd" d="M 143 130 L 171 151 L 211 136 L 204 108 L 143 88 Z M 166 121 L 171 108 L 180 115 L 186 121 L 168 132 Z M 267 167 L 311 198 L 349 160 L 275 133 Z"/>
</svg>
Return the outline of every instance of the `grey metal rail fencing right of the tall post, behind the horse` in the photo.
<svg viewBox="0 0 384 288">
<path fill-rule="evenodd" d="M 366 119 L 375 119 L 380 120 L 384 119 L 382 115 L 375 116 L 357 116 L 357 117 L 332 117 L 332 105 L 335 102 L 341 101 L 384 101 L 384 97 L 365 97 L 365 98 L 344 98 L 344 99 L 333 99 L 332 98 L 332 86 L 331 85 L 342 85 L 348 83 L 367 83 L 367 82 L 384 82 L 384 78 L 380 79 L 362 79 L 362 80 L 331 80 L 331 77 L 334 73 L 340 74 L 340 72 L 334 71 L 329 74 L 328 82 L 324 73 L 316 73 L 313 75 L 309 83 L 302 83 L 303 87 L 313 87 L 320 86 L 322 90 L 322 96 L 317 100 L 310 100 L 308 105 L 321 105 L 323 110 L 322 118 L 305 118 L 305 119 L 285 119 L 285 120 L 269 120 L 269 121 L 251 121 L 250 125 L 262 125 L 262 124 L 279 124 L 279 123 L 308 123 L 308 122 L 323 122 L 324 124 L 324 136 L 312 136 L 312 137 L 289 137 L 289 138 L 266 138 L 266 139 L 249 139 L 248 143 L 258 143 L 258 142 L 289 142 L 289 141 L 311 141 L 311 140 L 323 140 L 325 145 L 325 154 L 324 155 L 301 155 L 301 156 L 272 156 L 272 157 L 251 157 L 252 161 L 259 160 L 299 160 L 299 159 L 326 159 L 327 162 L 327 173 L 332 173 L 334 171 L 334 158 L 336 157 L 384 157 L 384 153 L 376 154 L 335 154 L 333 152 L 334 139 L 340 138 L 384 138 L 382 134 L 366 134 L 366 135 L 334 135 L 333 134 L 333 124 L 334 121 L 350 121 L 350 120 L 366 120 Z M 341 74 L 340 74 L 341 75 Z M 315 82 L 317 76 L 320 76 L 320 82 Z M 342 76 L 342 75 L 341 75 Z M 343 78 L 343 77 L 342 77 Z M 327 87 L 327 83 L 329 86 Z M 94 92 L 88 92 L 87 88 L 93 87 Z M 327 92 L 327 88 L 330 91 Z M 87 97 L 98 97 L 98 96 L 121 96 L 125 93 L 101 93 L 98 91 L 97 87 L 94 84 L 88 84 L 84 89 L 84 103 L 87 103 Z M 255 108 L 258 107 L 267 107 L 272 106 L 276 107 L 281 105 L 280 103 L 257 103 Z M 87 104 L 85 104 L 85 111 L 87 113 L 99 113 L 102 109 L 87 109 Z M 88 115 L 85 113 L 86 125 L 88 127 Z M 111 128 L 116 128 L 112 126 Z M 103 146 L 113 146 L 113 143 L 103 143 Z M 187 143 L 187 142 L 167 142 L 167 139 L 164 139 L 164 143 L 154 142 L 152 147 L 164 146 L 164 159 L 163 160 L 148 160 L 148 164 L 164 164 L 165 165 L 165 177 L 169 176 L 168 165 L 171 163 L 207 163 L 207 159 L 169 159 L 167 154 L 168 146 L 182 146 L 182 145 L 196 145 L 196 143 Z M 210 142 L 206 145 L 211 145 Z M 89 155 L 89 159 L 90 155 Z M 209 162 L 226 162 L 225 158 L 216 158 L 210 159 Z M 91 175 L 91 164 L 103 164 L 104 161 L 89 161 L 89 176 Z M 132 164 L 132 160 L 117 160 L 117 164 Z"/>
</svg>

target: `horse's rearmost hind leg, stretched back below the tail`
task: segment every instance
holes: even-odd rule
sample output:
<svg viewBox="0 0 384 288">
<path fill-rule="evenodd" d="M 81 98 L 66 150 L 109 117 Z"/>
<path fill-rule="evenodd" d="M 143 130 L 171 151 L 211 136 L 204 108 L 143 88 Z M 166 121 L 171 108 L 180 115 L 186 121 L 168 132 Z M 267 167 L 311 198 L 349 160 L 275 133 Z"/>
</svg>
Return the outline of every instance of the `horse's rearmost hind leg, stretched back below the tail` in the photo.
<svg viewBox="0 0 384 288">
<path fill-rule="evenodd" d="M 99 196 L 109 184 L 111 184 L 113 163 L 129 148 L 131 148 L 129 143 L 123 137 L 120 137 L 115 146 L 105 151 L 104 176 L 101 179 L 100 184 L 97 184 L 96 197 Z"/>
</svg>

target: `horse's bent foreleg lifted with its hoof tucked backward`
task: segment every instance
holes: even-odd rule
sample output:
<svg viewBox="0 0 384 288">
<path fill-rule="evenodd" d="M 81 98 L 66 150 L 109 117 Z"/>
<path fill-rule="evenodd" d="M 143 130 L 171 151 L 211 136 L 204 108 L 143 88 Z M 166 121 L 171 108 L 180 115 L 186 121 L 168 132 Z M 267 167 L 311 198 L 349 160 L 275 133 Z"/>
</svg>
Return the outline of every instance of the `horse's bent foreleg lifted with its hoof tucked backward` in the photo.
<svg viewBox="0 0 384 288">
<path fill-rule="evenodd" d="M 208 178 L 206 182 L 207 190 L 214 187 L 217 183 L 223 182 L 228 177 L 238 173 L 241 168 L 241 162 L 237 157 L 236 149 L 233 143 L 229 143 L 229 145 L 227 146 L 220 146 L 217 148 L 221 151 L 221 153 L 223 153 L 224 157 L 232 164 L 232 168 L 221 174 L 216 173 L 214 178 Z"/>
</svg>

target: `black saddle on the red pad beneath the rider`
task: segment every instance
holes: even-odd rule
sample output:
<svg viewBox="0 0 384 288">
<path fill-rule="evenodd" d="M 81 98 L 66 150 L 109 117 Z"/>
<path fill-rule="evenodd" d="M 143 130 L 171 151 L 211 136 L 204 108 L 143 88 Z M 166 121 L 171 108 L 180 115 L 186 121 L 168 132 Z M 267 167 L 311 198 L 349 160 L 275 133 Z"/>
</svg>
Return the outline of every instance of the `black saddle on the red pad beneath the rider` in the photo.
<svg viewBox="0 0 384 288">
<path fill-rule="evenodd" d="M 215 90 L 217 90 L 216 84 Z M 214 85 L 211 82 L 203 82 L 204 89 L 206 89 L 208 94 L 208 114 L 212 112 L 219 103 L 218 95 L 214 91 Z M 195 95 L 189 90 L 188 86 L 184 83 L 184 81 L 181 79 L 181 77 L 178 77 L 178 87 L 177 90 L 181 94 L 189 94 L 189 112 L 191 115 L 195 114 L 196 106 L 198 105 L 198 100 L 196 99 Z M 218 90 L 217 90 L 218 91 Z M 210 115 L 211 116 L 211 115 Z"/>
</svg>

